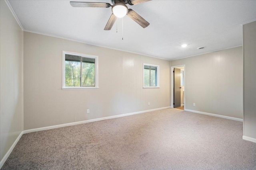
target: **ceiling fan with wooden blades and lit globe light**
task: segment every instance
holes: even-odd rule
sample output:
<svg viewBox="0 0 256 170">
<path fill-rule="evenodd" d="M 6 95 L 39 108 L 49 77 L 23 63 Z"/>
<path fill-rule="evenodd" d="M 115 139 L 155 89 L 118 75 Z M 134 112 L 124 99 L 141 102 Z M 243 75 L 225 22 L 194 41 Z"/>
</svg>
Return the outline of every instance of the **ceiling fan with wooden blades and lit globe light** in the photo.
<svg viewBox="0 0 256 170">
<path fill-rule="evenodd" d="M 73 7 L 98 7 L 98 8 L 109 8 L 112 6 L 112 15 L 110 16 L 108 23 L 104 30 L 110 30 L 114 25 L 117 18 L 123 18 L 125 15 L 128 15 L 132 20 L 137 22 L 143 28 L 146 28 L 149 23 L 144 20 L 139 14 L 134 10 L 128 9 L 126 4 L 136 5 L 142 2 L 147 2 L 150 0 L 111 0 L 112 4 L 101 3 L 101 2 L 70 2 L 70 5 Z"/>
</svg>

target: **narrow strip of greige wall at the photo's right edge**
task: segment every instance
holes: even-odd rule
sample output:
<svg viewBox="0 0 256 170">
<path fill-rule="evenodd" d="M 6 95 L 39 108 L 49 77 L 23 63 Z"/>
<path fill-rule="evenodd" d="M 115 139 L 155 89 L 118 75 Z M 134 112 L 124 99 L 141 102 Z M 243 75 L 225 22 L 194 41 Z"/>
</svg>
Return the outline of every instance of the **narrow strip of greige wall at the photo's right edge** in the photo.
<svg viewBox="0 0 256 170">
<path fill-rule="evenodd" d="M 244 136 L 256 142 L 256 21 L 244 26 Z"/>
</svg>

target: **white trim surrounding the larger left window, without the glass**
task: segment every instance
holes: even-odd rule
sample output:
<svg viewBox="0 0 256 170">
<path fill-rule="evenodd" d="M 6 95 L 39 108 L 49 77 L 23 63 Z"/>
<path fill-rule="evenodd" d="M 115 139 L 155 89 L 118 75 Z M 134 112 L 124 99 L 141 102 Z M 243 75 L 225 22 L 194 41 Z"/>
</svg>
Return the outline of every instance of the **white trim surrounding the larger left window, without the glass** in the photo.
<svg viewBox="0 0 256 170">
<path fill-rule="evenodd" d="M 66 54 L 95 59 L 95 86 L 91 86 L 91 87 L 89 86 L 88 87 L 66 87 L 65 86 L 65 55 Z M 98 73 L 99 73 L 98 72 L 98 56 L 82 54 L 82 53 L 74 53 L 69 51 L 62 51 L 62 90 L 98 89 L 99 88 Z"/>
</svg>

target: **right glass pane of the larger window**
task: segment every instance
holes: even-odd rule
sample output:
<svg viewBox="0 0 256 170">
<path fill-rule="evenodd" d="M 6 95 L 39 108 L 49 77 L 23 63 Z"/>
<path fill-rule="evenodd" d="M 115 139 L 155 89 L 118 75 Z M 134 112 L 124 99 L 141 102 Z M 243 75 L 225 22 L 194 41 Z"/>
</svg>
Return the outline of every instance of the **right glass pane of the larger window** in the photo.
<svg viewBox="0 0 256 170">
<path fill-rule="evenodd" d="M 82 86 L 95 86 L 95 59 L 82 57 Z"/>
</svg>

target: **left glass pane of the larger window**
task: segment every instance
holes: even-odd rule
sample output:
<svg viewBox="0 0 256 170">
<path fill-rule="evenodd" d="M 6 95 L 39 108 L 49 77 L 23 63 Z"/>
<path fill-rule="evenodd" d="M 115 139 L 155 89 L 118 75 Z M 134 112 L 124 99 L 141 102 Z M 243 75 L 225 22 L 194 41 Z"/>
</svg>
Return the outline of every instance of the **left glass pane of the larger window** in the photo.
<svg viewBox="0 0 256 170">
<path fill-rule="evenodd" d="M 80 57 L 65 55 L 65 86 L 80 87 Z"/>
</svg>

